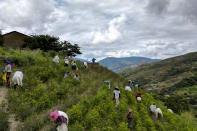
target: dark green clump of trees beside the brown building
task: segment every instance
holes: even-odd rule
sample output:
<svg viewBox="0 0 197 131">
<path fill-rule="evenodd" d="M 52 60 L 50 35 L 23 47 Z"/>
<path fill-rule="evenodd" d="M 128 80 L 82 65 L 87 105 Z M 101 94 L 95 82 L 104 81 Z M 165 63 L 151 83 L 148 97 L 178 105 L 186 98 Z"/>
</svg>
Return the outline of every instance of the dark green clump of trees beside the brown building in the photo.
<svg viewBox="0 0 197 131">
<path fill-rule="evenodd" d="M 61 42 L 58 37 L 50 35 L 32 35 L 24 40 L 23 47 L 32 50 L 40 49 L 45 52 L 53 50 L 67 56 L 81 54 L 80 47 L 77 44 L 72 45 L 68 41 Z"/>
</svg>

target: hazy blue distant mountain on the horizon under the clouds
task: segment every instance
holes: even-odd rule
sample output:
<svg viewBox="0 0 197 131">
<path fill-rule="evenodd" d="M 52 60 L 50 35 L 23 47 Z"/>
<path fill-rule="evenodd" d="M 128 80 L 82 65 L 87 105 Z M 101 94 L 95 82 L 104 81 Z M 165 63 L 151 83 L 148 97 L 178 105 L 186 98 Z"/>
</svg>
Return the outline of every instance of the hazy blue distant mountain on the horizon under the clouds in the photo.
<svg viewBox="0 0 197 131">
<path fill-rule="evenodd" d="M 146 57 L 137 57 L 137 56 L 122 57 L 122 58 L 107 57 L 99 61 L 99 64 L 107 67 L 108 69 L 114 72 L 119 72 L 127 68 L 133 68 L 139 65 L 152 63 L 152 62 L 159 62 L 159 61 L 160 61 L 159 59 L 150 59 Z"/>
</svg>

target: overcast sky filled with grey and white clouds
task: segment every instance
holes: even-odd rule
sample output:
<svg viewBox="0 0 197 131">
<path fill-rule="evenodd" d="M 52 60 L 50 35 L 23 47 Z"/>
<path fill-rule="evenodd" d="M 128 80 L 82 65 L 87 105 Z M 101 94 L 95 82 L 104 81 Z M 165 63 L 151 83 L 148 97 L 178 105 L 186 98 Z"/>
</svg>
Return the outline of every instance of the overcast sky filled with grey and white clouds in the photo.
<svg viewBox="0 0 197 131">
<path fill-rule="evenodd" d="M 197 51 L 197 0 L 0 0 L 0 29 L 50 34 L 84 59 Z"/>
</svg>

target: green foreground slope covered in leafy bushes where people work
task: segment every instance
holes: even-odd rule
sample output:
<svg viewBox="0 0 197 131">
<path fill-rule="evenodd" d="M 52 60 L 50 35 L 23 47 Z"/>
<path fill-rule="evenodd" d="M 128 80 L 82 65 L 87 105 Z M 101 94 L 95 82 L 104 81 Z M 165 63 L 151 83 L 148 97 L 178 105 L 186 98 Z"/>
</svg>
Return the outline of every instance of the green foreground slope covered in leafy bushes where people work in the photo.
<svg viewBox="0 0 197 131">
<path fill-rule="evenodd" d="M 128 92 L 121 88 L 120 105 L 116 108 L 112 100 L 113 88 L 109 90 L 103 81 L 112 81 L 112 87 L 123 87 L 127 80 L 107 68 L 89 65 L 88 69 L 84 69 L 78 61 L 77 72 L 80 73 L 80 80 L 72 76 L 65 79 L 65 71 L 71 68 L 63 66 L 63 57 L 60 57 L 60 64 L 54 64 L 50 52 L 0 48 L 0 56 L 15 61 L 13 72 L 24 72 L 23 87 L 8 90 L 8 113 L 0 109 L 0 130 L 8 130 L 6 125 L 10 113 L 15 114 L 19 120 L 19 131 L 55 130 L 49 114 L 54 109 L 59 109 L 68 114 L 70 131 L 128 131 L 125 117 L 128 108 L 133 110 L 134 131 L 197 129 L 195 121 L 186 115 L 169 113 L 162 102 L 143 90 Z M 0 70 L 3 70 L 3 61 L 0 61 L 0 64 Z M 141 102 L 136 101 L 135 92 L 141 92 Z M 162 109 L 163 120 L 152 119 L 149 106 L 153 101 Z M 3 108 L 3 105 L 0 107 Z"/>
</svg>

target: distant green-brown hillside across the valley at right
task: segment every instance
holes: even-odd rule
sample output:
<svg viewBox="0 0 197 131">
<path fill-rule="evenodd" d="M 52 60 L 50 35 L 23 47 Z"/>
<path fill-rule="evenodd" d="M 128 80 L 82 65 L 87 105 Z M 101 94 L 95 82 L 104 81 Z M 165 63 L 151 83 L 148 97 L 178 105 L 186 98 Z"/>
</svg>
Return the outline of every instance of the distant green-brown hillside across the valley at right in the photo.
<svg viewBox="0 0 197 131">
<path fill-rule="evenodd" d="M 149 91 L 184 96 L 197 109 L 197 52 L 127 69 L 120 74 L 139 81 Z"/>
</svg>

